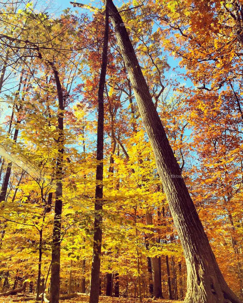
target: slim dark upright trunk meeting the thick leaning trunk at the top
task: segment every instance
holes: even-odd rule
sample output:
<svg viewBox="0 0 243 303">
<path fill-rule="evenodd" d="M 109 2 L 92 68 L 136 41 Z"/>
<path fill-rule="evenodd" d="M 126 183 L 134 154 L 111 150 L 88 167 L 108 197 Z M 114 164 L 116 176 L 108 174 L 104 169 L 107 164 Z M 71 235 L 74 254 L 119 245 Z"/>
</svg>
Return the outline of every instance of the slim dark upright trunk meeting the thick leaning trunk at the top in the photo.
<svg viewBox="0 0 243 303">
<path fill-rule="evenodd" d="M 94 246 L 91 267 L 90 303 L 99 301 L 100 266 L 101 266 L 101 242 L 102 242 L 102 208 L 103 208 L 103 147 L 104 147 L 104 85 L 107 68 L 107 49 L 109 35 L 109 13 L 105 7 L 105 29 L 102 50 L 101 75 L 98 89 L 98 125 L 97 125 L 97 160 L 100 163 L 96 167 L 95 187 L 95 218 L 94 218 Z"/>
</svg>

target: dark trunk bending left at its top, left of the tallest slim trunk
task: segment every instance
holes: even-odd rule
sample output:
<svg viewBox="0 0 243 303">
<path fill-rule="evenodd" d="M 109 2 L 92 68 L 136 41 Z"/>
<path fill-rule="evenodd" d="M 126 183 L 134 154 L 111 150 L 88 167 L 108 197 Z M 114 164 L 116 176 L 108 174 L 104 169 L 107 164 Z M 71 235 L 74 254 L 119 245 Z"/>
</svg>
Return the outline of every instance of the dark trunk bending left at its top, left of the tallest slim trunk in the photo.
<svg viewBox="0 0 243 303">
<path fill-rule="evenodd" d="M 62 86 L 57 70 L 53 66 L 53 73 L 56 81 L 57 97 L 58 97 L 58 155 L 56 161 L 56 197 L 54 208 L 53 222 L 53 240 L 52 240 L 52 256 L 51 256 L 51 278 L 50 278 L 50 302 L 59 302 L 60 292 L 60 251 L 61 251 L 61 218 L 63 204 L 63 187 L 62 187 L 62 170 L 63 170 L 63 153 L 64 153 L 64 135 L 63 135 L 63 111 L 64 100 Z"/>
</svg>

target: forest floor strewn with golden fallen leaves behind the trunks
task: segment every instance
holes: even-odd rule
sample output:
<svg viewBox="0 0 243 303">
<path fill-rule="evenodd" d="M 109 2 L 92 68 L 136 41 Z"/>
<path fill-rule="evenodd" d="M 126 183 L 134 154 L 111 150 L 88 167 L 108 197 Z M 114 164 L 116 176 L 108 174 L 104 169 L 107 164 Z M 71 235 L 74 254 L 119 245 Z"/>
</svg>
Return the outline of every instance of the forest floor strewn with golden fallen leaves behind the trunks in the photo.
<svg viewBox="0 0 243 303">
<path fill-rule="evenodd" d="M 27 295 L 27 294 L 26 294 Z M 18 299 L 19 303 L 24 302 L 24 297 L 17 297 L 16 295 L 12 296 L 6 296 L 6 297 L 0 297 L 0 303 L 13 303 Z M 18 303 L 17 302 L 17 303 Z M 34 303 L 35 301 L 27 301 L 29 303 Z M 72 298 L 68 300 L 60 300 L 60 303 L 88 303 L 89 302 L 89 295 L 84 294 L 78 294 L 77 298 Z M 107 297 L 107 296 L 100 296 L 99 303 L 138 303 L 139 300 L 137 298 L 114 298 L 114 297 Z M 149 303 L 149 302 L 157 302 L 157 303 L 180 303 L 181 301 L 174 301 L 174 300 L 166 300 L 166 299 L 156 299 L 153 300 L 152 298 L 143 298 L 143 303 Z"/>
</svg>

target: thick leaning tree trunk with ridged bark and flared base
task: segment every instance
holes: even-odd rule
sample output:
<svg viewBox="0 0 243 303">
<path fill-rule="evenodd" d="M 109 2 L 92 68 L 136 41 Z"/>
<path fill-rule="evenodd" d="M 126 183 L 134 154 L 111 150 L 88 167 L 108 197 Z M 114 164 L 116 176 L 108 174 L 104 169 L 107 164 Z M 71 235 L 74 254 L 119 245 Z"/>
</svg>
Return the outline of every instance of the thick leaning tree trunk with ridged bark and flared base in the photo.
<svg viewBox="0 0 243 303">
<path fill-rule="evenodd" d="M 112 0 L 107 0 L 121 55 L 125 61 L 139 111 L 156 158 L 187 264 L 187 303 L 240 303 L 217 265 L 196 208 L 181 177 L 163 125 L 142 75 L 132 43 Z"/>
</svg>

